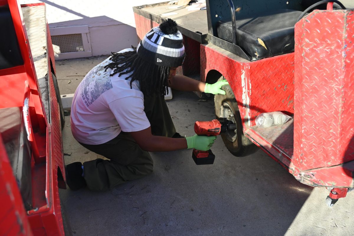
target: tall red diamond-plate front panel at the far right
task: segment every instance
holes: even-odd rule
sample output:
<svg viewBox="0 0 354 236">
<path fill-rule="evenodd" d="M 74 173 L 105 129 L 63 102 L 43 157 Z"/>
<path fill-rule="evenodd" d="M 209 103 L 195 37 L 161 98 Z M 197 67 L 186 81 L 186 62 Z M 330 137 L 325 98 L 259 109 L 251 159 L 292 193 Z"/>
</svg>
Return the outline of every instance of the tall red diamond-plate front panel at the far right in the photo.
<svg viewBox="0 0 354 236">
<path fill-rule="evenodd" d="M 294 164 L 300 170 L 354 160 L 353 19 L 353 11 L 315 11 L 296 24 Z"/>
</svg>

